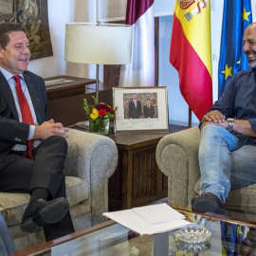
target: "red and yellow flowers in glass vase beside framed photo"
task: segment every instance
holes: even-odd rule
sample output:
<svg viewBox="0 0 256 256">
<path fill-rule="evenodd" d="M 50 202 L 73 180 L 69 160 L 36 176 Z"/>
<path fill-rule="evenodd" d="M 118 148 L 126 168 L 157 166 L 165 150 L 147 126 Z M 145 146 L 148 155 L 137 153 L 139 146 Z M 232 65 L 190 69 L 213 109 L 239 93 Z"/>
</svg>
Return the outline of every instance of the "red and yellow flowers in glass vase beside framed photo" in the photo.
<svg viewBox="0 0 256 256">
<path fill-rule="evenodd" d="M 98 103 L 94 96 L 92 98 L 92 105 L 83 99 L 83 109 L 89 119 L 89 130 L 91 133 L 108 134 L 109 119 L 116 117 L 118 107 L 112 108 L 103 102 Z"/>
</svg>

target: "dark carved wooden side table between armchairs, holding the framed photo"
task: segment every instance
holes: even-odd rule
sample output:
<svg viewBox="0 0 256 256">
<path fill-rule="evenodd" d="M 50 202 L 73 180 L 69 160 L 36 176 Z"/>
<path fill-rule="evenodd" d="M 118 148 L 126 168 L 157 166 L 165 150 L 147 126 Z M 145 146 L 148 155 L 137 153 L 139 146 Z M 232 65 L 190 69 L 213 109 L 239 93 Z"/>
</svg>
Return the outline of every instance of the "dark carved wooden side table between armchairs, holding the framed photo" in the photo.
<svg viewBox="0 0 256 256">
<path fill-rule="evenodd" d="M 119 164 L 108 185 L 109 210 L 144 206 L 167 196 L 167 177 L 155 162 L 155 149 L 167 134 L 111 134 Z"/>
</svg>

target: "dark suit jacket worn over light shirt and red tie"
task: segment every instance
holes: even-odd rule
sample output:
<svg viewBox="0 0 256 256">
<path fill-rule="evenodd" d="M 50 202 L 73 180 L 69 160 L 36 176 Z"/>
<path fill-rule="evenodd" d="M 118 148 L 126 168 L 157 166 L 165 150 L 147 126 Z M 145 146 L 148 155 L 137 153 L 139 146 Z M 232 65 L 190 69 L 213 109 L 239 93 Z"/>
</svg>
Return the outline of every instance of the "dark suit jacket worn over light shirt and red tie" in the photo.
<svg viewBox="0 0 256 256">
<path fill-rule="evenodd" d="M 29 72 L 23 73 L 39 124 L 47 118 L 46 85 L 44 80 Z M 15 144 L 27 144 L 29 125 L 19 122 L 9 83 L 0 72 L 0 166 Z"/>
</svg>

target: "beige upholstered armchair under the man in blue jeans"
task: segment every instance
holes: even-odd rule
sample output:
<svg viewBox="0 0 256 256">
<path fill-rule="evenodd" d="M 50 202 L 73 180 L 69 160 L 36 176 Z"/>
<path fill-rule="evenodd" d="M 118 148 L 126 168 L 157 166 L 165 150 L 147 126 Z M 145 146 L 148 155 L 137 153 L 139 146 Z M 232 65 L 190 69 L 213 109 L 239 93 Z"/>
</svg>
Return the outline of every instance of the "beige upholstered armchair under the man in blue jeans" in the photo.
<svg viewBox="0 0 256 256">
<path fill-rule="evenodd" d="M 168 176 L 170 204 L 191 207 L 192 198 L 200 189 L 197 127 L 163 137 L 156 148 L 156 163 Z M 235 153 L 234 153 L 235 154 Z M 256 185 L 229 193 L 225 204 L 236 217 L 256 220 Z"/>
</svg>

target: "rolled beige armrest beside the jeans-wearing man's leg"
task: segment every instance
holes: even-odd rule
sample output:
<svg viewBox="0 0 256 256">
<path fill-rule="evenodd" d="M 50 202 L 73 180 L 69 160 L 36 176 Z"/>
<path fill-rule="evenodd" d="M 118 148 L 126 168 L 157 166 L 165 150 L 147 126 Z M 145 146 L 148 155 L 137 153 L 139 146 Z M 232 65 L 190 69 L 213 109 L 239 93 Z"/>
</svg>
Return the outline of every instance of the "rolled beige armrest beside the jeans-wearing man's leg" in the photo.
<svg viewBox="0 0 256 256">
<path fill-rule="evenodd" d="M 194 186 L 200 177 L 198 127 L 162 137 L 156 147 L 156 163 L 168 176 L 170 204 L 188 206 L 196 195 Z"/>
</svg>

